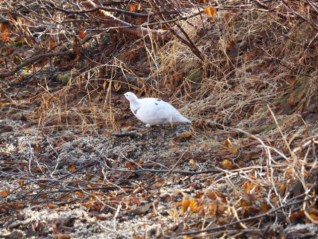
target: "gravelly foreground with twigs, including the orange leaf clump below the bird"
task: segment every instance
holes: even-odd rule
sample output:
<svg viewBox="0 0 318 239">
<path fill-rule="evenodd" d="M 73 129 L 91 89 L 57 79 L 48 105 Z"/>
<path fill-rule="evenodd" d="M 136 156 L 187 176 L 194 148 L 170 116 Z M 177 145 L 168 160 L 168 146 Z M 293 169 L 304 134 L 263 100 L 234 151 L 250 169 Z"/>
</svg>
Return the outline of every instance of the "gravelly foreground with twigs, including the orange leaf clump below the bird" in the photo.
<svg viewBox="0 0 318 239">
<path fill-rule="evenodd" d="M 0 124 L 1 239 L 186 238 L 202 229 L 212 229 L 203 238 L 317 238 L 299 213 L 288 227 L 269 217 L 261 228 L 241 230 L 239 219 L 270 209 L 267 186 L 248 183 L 260 165 L 255 143 L 247 145 L 252 153 L 238 154 L 225 133 L 200 135 L 182 124 L 132 121 L 120 133 L 90 135 Z M 237 160 L 246 155 L 255 159 Z"/>
</svg>

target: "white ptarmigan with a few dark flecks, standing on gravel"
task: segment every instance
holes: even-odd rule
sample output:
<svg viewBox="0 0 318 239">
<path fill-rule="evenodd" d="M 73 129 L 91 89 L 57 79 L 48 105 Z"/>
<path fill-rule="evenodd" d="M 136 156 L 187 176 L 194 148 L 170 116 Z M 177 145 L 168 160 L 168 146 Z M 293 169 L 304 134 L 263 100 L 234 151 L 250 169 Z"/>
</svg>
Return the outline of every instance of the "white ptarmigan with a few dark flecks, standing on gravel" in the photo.
<svg viewBox="0 0 318 239">
<path fill-rule="evenodd" d="M 130 102 L 130 110 L 147 127 L 166 123 L 191 123 L 169 103 L 157 98 L 138 99 L 132 92 L 125 93 L 125 97 Z"/>
</svg>

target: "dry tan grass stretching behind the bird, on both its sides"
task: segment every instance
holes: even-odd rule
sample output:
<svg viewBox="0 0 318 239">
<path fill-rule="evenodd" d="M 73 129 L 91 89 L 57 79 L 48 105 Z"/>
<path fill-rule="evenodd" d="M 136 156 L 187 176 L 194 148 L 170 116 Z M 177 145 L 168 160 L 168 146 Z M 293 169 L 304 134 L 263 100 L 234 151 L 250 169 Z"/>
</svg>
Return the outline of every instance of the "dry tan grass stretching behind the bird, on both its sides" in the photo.
<svg viewBox="0 0 318 239">
<path fill-rule="evenodd" d="M 315 33 L 306 22 L 286 21 L 268 12 L 220 10 L 215 19 L 193 17 L 182 22 L 181 28 L 205 55 L 204 62 L 177 38 L 163 47 L 145 41 L 144 47 L 133 47 L 124 58 L 132 59 L 136 51 L 144 51 L 148 63 L 143 67 L 150 72 L 149 80 L 135 73 L 137 66 L 119 58 L 83 73 L 74 72 L 63 90 L 39 96 L 39 125 L 58 120 L 81 129 L 94 128 L 99 122 L 115 126 L 124 114 L 115 100 L 116 92 L 129 90 L 165 97 L 200 127 L 220 124 L 226 130 L 262 131 L 273 123 L 267 105 L 290 104 L 297 112 L 317 98 L 317 52 L 304 45 L 315 39 Z M 105 72 L 110 73 L 108 78 L 100 77 Z M 77 91 L 82 92 L 82 99 L 72 105 Z M 278 103 L 281 101 L 285 102 Z M 72 118 L 80 123 L 68 122 Z"/>
</svg>

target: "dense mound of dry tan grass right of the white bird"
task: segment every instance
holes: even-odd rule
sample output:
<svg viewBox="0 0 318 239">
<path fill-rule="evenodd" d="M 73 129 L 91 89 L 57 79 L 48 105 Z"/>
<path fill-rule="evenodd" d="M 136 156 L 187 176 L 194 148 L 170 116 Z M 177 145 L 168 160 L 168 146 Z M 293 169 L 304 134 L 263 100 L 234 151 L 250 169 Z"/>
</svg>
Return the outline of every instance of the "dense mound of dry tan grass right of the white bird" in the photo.
<svg viewBox="0 0 318 239">
<path fill-rule="evenodd" d="M 283 121 L 301 108 L 306 111 L 314 108 L 311 104 L 317 106 L 312 101 L 318 90 L 317 46 L 308 45 L 316 33 L 307 22 L 253 11 L 219 11 L 210 21 L 205 15 L 181 26 L 205 54 L 204 63 L 177 38 L 151 58 L 160 62 L 154 75 L 170 80 L 156 90 L 181 99 L 180 112 L 199 124 L 263 129 L 273 123 L 267 105 L 288 108 L 279 116 Z M 179 86 L 183 84 L 183 88 L 170 87 L 175 72 L 180 71 L 184 79 Z"/>
</svg>

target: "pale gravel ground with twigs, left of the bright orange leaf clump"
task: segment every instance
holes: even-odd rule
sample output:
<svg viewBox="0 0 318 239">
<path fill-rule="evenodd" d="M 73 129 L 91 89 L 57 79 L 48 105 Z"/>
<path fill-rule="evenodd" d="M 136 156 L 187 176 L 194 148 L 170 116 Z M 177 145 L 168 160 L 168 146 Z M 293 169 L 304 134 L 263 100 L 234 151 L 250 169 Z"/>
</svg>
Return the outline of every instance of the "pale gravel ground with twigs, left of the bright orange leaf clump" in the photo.
<svg viewBox="0 0 318 239">
<path fill-rule="evenodd" d="M 1 196 L 0 238 L 172 235 L 178 225 L 195 223 L 181 215 L 182 194 L 217 189 L 201 181 L 209 173 L 180 172 L 217 166 L 211 152 L 200 154 L 211 148 L 191 139 L 187 125 L 128 126 L 123 131 L 129 136 L 114 136 L 71 131 L 43 135 L 24 130 L 21 121 L 0 123 L 0 183 L 7 192 Z M 227 190 L 224 181 L 218 185 L 218 190 Z M 116 233 L 111 232 L 114 227 Z"/>
</svg>

